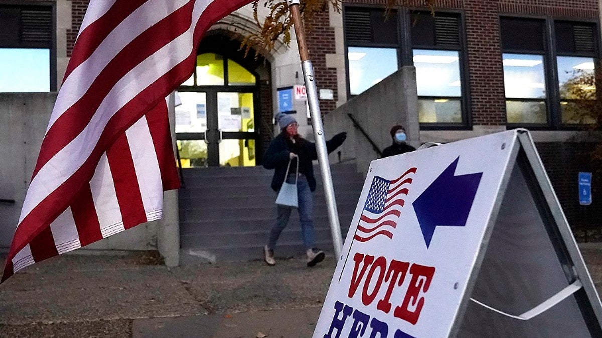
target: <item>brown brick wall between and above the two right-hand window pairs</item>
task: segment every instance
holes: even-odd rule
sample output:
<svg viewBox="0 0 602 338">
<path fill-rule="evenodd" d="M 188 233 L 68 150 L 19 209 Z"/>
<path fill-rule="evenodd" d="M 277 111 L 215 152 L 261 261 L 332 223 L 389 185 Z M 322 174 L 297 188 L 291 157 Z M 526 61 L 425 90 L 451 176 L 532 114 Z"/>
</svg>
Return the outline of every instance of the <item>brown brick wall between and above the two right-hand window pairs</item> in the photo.
<svg viewBox="0 0 602 338">
<path fill-rule="evenodd" d="M 422 0 L 399 0 L 410 8 Z M 344 4 L 385 5 L 386 0 L 347 0 Z M 468 85 L 473 124 L 506 123 L 500 14 L 597 19 L 598 0 L 437 0 L 436 10 L 463 10 L 468 58 Z M 323 38 L 324 39 L 324 38 Z"/>
</svg>

